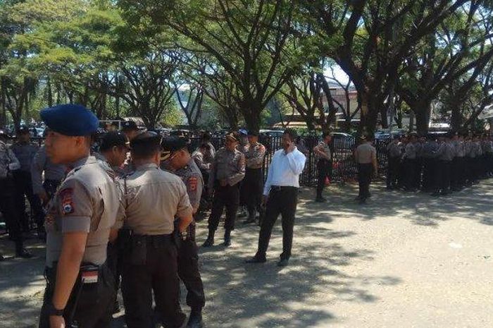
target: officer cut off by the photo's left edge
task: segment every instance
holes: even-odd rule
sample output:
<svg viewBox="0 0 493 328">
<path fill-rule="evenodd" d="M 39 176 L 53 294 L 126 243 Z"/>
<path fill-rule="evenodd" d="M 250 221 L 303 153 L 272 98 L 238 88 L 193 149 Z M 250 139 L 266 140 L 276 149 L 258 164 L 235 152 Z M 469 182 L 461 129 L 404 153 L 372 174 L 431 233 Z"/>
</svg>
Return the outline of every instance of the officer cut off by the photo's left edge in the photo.
<svg viewBox="0 0 493 328">
<path fill-rule="evenodd" d="M 4 214 L 8 233 L 15 243 L 15 256 L 27 258 L 31 257 L 31 254 L 23 246 L 20 219 L 15 209 L 15 184 L 12 176 L 12 171 L 19 169 L 20 164 L 12 150 L 8 149 L 6 138 L 4 130 L 0 130 L 0 212 Z M 4 260 L 1 255 L 0 260 Z"/>
</svg>

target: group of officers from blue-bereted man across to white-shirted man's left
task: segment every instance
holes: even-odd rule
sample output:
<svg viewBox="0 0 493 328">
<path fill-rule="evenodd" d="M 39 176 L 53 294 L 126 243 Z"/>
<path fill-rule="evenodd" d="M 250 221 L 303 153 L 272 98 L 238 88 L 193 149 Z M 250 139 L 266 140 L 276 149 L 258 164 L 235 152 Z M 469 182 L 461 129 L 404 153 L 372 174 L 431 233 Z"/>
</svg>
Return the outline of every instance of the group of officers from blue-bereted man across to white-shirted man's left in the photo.
<svg viewBox="0 0 493 328">
<path fill-rule="evenodd" d="M 118 288 L 129 328 L 202 327 L 205 296 L 194 217 L 204 198 L 212 202 L 206 247 L 214 244 L 223 209 L 224 245 L 231 244 L 242 192 L 259 195 L 246 201 L 246 221 L 255 221 L 262 210 L 266 152 L 258 133 L 229 133 L 217 152 L 206 135 L 191 154 L 186 138 L 162 138 L 125 122 L 122 132 L 104 135 L 94 152 L 99 121 L 91 111 L 66 104 L 40 116 L 47 126 L 46 159 L 65 174 L 42 207 L 46 289 L 39 327 L 109 327 Z M 48 172 L 44 166 L 44 183 Z M 188 320 L 179 302 L 180 280 L 187 288 Z"/>
</svg>

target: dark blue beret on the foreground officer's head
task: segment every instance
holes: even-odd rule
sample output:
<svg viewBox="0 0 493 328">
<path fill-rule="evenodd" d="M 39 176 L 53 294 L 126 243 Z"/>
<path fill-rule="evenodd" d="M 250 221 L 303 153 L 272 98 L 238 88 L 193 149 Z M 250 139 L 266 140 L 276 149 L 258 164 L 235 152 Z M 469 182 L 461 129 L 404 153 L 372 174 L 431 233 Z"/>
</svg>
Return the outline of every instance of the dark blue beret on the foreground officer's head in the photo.
<svg viewBox="0 0 493 328">
<path fill-rule="evenodd" d="M 71 137 L 91 135 L 99 127 L 96 115 L 82 105 L 58 105 L 43 109 L 39 115 L 50 130 Z"/>
</svg>

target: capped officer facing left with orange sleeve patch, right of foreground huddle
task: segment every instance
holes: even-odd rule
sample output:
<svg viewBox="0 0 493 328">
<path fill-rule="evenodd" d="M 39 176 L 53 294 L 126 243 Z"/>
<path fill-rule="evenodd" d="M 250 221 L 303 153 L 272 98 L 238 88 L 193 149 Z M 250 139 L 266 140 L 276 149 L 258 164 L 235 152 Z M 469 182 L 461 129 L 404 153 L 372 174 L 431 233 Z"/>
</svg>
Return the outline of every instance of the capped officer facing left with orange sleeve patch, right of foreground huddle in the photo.
<svg viewBox="0 0 493 328">
<path fill-rule="evenodd" d="M 187 193 L 194 214 L 199 209 L 204 181 L 199 168 L 187 149 L 189 140 L 180 137 L 163 139 L 163 152 L 168 152 L 166 167 L 182 178 L 187 186 Z M 187 287 L 187 305 L 192 308 L 187 327 L 202 327 L 202 308 L 206 303 L 204 285 L 199 272 L 199 254 L 195 243 L 195 222 L 187 228 L 187 237 L 178 248 L 178 276 Z"/>
</svg>

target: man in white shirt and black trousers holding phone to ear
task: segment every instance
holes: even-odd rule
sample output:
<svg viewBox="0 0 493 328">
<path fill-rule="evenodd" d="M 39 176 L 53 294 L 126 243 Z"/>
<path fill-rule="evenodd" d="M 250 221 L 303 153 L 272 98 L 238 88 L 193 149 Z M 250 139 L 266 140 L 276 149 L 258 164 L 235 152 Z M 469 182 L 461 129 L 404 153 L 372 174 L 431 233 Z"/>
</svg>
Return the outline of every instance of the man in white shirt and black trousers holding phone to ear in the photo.
<svg viewBox="0 0 493 328">
<path fill-rule="evenodd" d="M 262 221 L 258 236 L 258 250 L 247 263 L 266 262 L 270 234 L 279 214 L 282 216 L 282 254 L 277 263 L 285 267 L 291 257 L 294 214 L 297 208 L 299 175 L 305 167 L 306 157 L 297 150 L 295 130 L 287 129 L 282 135 L 282 149 L 274 153 L 270 162 L 267 181 L 263 188 L 263 204 L 266 217 Z"/>
</svg>

